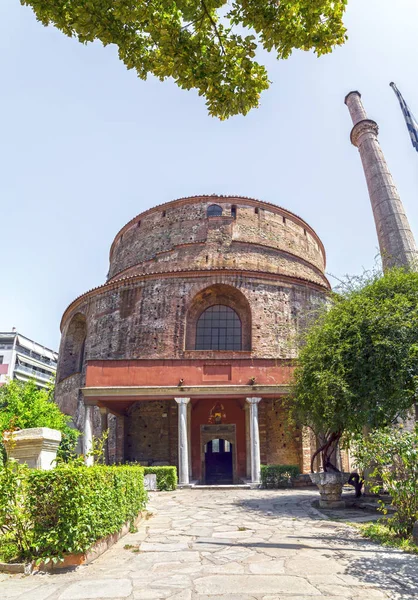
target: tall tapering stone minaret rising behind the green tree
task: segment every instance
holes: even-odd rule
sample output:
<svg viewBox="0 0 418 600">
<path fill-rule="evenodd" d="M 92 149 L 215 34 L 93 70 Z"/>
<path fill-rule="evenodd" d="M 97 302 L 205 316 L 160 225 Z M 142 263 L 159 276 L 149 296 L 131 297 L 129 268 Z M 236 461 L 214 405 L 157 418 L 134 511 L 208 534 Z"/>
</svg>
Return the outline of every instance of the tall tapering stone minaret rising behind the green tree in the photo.
<svg viewBox="0 0 418 600">
<path fill-rule="evenodd" d="M 383 270 L 418 268 L 418 252 L 405 209 L 380 148 L 375 121 L 367 118 L 359 92 L 350 92 L 345 103 L 353 120 L 351 142 L 357 146 L 369 188 Z"/>
</svg>

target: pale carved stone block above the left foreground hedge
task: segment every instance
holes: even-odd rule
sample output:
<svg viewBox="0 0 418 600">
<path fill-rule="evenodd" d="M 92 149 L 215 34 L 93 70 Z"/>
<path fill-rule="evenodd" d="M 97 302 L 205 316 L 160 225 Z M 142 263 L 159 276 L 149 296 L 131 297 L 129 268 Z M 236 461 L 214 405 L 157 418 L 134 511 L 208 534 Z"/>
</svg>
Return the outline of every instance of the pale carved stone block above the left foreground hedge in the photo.
<svg viewBox="0 0 418 600">
<path fill-rule="evenodd" d="M 49 427 L 7 431 L 3 435 L 8 458 L 26 463 L 31 469 L 53 469 L 61 432 Z"/>
</svg>

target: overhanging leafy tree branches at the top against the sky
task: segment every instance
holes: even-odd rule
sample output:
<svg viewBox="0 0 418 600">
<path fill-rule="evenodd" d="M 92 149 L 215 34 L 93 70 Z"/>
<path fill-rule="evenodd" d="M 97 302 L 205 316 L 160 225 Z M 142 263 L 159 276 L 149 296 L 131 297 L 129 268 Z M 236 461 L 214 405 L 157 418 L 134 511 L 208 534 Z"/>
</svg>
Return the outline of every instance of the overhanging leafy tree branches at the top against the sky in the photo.
<svg viewBox="0 0 418 600">
<path fill-rule="evenodd" d="M 21 0 L 44 25 L 83 44 L 115 44 L 141 79 L 171 77 L 227 119 L 257 107 L 269 86 L 259 49 L 318 56 L 346 40 L 347 0 Z"/>
</svg>

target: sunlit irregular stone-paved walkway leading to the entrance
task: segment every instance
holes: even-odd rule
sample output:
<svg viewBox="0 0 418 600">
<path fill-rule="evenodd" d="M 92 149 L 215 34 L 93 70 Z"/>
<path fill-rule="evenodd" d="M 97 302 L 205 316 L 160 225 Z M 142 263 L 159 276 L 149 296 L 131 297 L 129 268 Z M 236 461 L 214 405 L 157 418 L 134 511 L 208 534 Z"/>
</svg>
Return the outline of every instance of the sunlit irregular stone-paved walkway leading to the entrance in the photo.
<svg viewBox="0 0 418 600">
<path fill-rule="evenodd" d="M 7 577 L 0 598 L 418 598 L 417 556 L 321 518 L 311 507 L 314 497 L 292 490 L 156 493 L 153 516 L 93 564 L 67 574 Z"/>
</svg>

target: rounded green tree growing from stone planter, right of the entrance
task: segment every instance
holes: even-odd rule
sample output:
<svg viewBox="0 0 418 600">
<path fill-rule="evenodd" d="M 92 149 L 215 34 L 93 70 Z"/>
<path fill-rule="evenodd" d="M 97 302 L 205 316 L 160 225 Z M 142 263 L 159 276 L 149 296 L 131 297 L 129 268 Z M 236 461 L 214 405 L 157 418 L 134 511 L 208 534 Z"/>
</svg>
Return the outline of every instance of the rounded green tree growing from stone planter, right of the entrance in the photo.
<svg viewBox="0 0 418 600">
<path fill-rule="evenodd" d="M 406 417 L 418 399 L 418 273 L 393 269 L 333 294 L 308 329 L 293 414 L 320 440 L 324 471 L 344 433 Z"/>
</svg>

